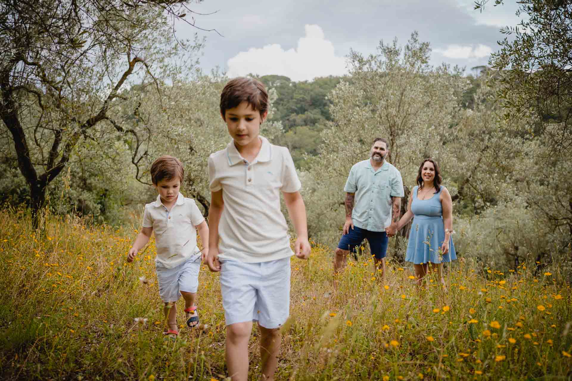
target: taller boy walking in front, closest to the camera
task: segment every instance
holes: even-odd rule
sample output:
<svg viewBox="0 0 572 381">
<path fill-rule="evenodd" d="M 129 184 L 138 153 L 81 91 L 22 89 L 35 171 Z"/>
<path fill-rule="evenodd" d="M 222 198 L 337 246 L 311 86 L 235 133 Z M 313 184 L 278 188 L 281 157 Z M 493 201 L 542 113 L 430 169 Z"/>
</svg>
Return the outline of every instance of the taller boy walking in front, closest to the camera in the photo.
<svg viewBox="0 0 572 381">
<path fill-rule="evenodd" d="M 221 271 L 229 376 L 247 380 L 248 340 L 256 320 L 262 379 L 273 380 L 280 326 L 289 315 L 292 256 L 280 191 L 296 229 L 295 254 L 302 259 L 310 252 L 306 210 L 288 149 L 259 136 L 268 114 L 264 85 L 251 78 L 232 79 L 221 94 L 220 113 L 232 141 L 209 157 L 206 263 L 210 271 Z"/>
</svg>

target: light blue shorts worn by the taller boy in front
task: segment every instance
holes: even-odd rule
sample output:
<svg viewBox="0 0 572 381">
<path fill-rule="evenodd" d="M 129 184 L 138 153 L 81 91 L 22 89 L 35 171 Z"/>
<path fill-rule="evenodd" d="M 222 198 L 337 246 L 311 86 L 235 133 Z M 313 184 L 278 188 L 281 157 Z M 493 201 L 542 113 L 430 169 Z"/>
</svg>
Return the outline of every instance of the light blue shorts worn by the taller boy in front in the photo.
<svg viewBox="0 0 572 381">
<path fill-rule="evenodd" d="M 290 314 L 290 258 L 269 262 L 221 261 L 220 286 L 227 326 L 258 321 L 278 328 Z"/>
</svg>

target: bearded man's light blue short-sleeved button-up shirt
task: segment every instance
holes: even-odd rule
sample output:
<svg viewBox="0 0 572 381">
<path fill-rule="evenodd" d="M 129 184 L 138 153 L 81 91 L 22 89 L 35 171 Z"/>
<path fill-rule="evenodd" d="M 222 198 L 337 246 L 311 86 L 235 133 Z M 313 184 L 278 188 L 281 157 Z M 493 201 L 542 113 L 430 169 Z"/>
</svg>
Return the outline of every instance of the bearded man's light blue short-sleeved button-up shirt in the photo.
<svg viewBox="0 0 572 381">
<path fill-rule="evenodd" d="M 391 224 L 391 197 L 403 197 L 401 173 L 388 162 L 377 171 L 370 159 L 353 165 L 344 192 L 355 193 L 353 226 L 370 231 L 385 231 Z"/>
</svg>

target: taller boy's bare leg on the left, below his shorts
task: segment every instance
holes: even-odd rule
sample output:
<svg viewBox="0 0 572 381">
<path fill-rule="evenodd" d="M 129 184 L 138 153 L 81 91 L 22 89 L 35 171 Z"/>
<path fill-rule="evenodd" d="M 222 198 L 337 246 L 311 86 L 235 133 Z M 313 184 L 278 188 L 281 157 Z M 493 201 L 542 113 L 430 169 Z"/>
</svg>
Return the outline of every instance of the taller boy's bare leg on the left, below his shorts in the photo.
<svg viewBox="0 0 572 381">
<path fill-rule="evenodd" d="M 252 322 L 235 323 L 227 326 L 227 368 L 232 381 L 247 381 L 248 340 Z"/>
</svg>

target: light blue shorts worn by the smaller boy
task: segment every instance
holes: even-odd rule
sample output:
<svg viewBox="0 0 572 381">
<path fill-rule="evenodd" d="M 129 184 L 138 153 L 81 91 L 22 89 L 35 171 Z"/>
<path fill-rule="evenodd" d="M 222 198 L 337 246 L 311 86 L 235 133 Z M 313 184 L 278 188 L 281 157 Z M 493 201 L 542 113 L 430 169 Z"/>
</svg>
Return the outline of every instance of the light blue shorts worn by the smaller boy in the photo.
<svg viewBox="0 0 572 381">
<path fill-rule="evenodd" d="M 198 271 L 201 270 L 200 256 L 173 268 L 166 268 L 156 262 L 155 269 L 159 283 L 159 296 L 163 302 L 176 302 L 181 297 L 180 291 L 197 292 Z"/>
</svg>

